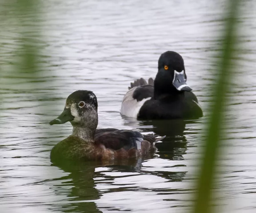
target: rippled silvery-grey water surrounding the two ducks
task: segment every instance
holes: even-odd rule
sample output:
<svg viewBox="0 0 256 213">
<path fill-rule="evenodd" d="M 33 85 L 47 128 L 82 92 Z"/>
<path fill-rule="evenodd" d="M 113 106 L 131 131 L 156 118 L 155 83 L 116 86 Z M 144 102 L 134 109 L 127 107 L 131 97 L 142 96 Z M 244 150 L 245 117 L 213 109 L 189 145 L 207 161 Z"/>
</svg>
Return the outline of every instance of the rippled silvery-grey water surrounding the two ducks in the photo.
<svg viewBox="0 0 256 213">
<path fill-rule="evenodd" d="M 2 2 L 3 3 L 3 2 Z M 2 4 L 1 3 L 1 4 Z M 225 146 L 215 196 L 223 212 L 252 213 L 256 203 L 256 4 L 242 5 L 237 78 L 229 93 Z M 3 5 L 2 5 L 3 6 Z M 0 13 L 0 206 L 3 213 L 185 212 L 198 171 L 206 118 L 189 122 L 142 122 L 120 116 L 129 83 L 155 77 L 166 50 L 185 61 L 188 83 L 204 109 L 216 73 L 223 1 L 45 0 L 37 19 L 15 19 L 5 2 Z M 6 19 L 6 17 L 8 19 Z M 19 32 L 40 49 L 36 76 L 20 72 Z M 3 30 L 4 29 L 4 30 Z M 40 35 L 40 36 L 39 36 Z M 53 166 L 50 150 L 70 124 L 49 126 L 77 89 L 96 93 L 99 127 L 167 134 L 153 158 L 142 163 Z M 172 209 L 170 209 L 172 207 Z"/>
</svg>

